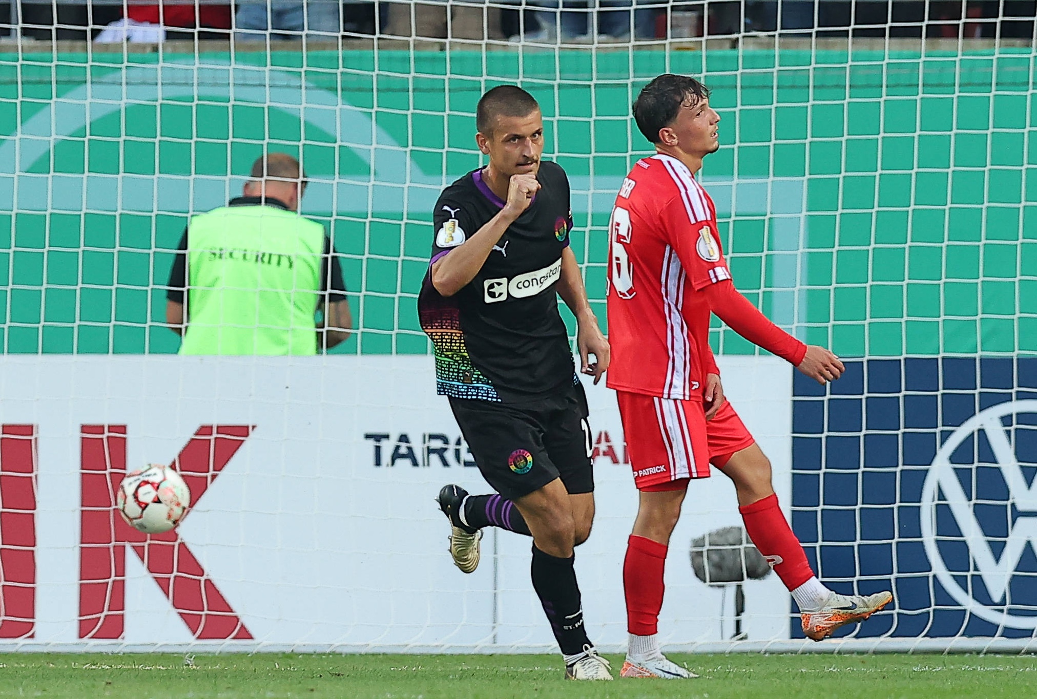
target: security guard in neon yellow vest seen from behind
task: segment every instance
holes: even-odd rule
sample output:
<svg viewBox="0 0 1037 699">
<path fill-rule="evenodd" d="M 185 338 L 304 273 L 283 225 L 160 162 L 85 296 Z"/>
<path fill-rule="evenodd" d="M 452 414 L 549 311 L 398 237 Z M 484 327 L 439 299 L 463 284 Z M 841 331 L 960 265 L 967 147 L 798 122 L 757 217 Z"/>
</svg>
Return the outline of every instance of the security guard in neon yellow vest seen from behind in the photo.
<svg viewBox="0 0 1037 699">
<path fill-rule="evenodd" d="M 252 165 L 244 196 L 191 218 L 166 293 L 181 355 L 314 355 L 348 337 L 331 239 L 298 215 L 305 189 L 299 161 L 270 153 Z"/>
</svg>

